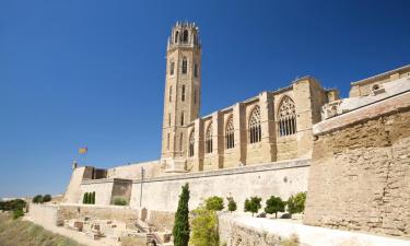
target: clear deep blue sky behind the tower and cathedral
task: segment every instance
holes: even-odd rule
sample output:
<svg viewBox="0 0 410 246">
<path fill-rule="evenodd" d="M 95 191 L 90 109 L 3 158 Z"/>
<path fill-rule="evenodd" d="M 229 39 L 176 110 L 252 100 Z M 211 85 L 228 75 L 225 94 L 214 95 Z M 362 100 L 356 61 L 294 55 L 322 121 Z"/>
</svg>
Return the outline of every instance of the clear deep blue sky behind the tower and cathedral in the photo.
<svg viewBox="0 0 410 246">
<path fill-rule="evenodd" d="M 165 48 L 202 40 L 209 114 L 311 74 L 349 83 L 410 63 L 410 1 L 0 1 L 0 197 L 63 192 L 78 149 L 160 156 Z"/>
</svg>

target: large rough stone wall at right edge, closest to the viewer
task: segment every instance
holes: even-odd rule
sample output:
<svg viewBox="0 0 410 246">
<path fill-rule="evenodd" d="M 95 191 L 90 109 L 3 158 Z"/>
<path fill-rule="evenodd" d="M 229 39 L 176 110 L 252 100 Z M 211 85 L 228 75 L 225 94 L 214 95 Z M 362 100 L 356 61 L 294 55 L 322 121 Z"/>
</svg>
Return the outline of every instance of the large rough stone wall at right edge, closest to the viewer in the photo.
<svg viewBox="0 0 410 246">
<path fill-rule="evenodd" d="M 315 125 L 306 224 L 410 238 L 410 93 Z"/>
</svg>

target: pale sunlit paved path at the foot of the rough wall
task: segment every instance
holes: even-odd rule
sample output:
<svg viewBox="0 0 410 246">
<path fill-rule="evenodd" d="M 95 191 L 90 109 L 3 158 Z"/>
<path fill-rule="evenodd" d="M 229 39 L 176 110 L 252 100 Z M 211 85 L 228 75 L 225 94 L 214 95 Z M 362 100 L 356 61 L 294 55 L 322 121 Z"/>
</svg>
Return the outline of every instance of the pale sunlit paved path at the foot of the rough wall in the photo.
<svg viewBox="0 0 410 246">
<path fill-rule="evenodd" d="M 303 245 L 312 246 L 410 246 L 410 241 L 304 225 L 293 220 L 272 220 L 242 214 L 221 214 L 247 227 L 289 237 L 296 234 Z"/>
</svg>

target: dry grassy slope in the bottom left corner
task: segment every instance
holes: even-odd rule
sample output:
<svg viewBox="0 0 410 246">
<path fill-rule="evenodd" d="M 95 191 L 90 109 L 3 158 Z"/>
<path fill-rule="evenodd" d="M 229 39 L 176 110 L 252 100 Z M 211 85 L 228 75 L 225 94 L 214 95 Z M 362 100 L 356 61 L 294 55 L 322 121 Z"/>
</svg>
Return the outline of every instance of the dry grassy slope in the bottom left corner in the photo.
<svg viewBox="0 0 410 246">
<path fill-rule="evenodd" d="M 0 245 L 2 246 L 82 246 L 73 239 L 46 231 L 10 213 L 0 213 Z"/>
</svg>

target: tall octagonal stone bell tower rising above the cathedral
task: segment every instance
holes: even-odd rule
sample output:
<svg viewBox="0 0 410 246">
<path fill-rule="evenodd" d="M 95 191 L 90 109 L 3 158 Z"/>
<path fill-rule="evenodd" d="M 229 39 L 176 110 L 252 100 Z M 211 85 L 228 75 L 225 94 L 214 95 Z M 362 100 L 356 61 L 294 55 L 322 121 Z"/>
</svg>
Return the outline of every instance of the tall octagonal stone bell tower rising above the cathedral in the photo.
<svg viewBox="0 0 410 246">
<path fill-rule="evenodd" d="M 187 125 L 199 116 L 201 45 L 195 23 L 176 23 L 168 37 L 161 162 L 167 172 L 185 172 Z"/>
</svg>

